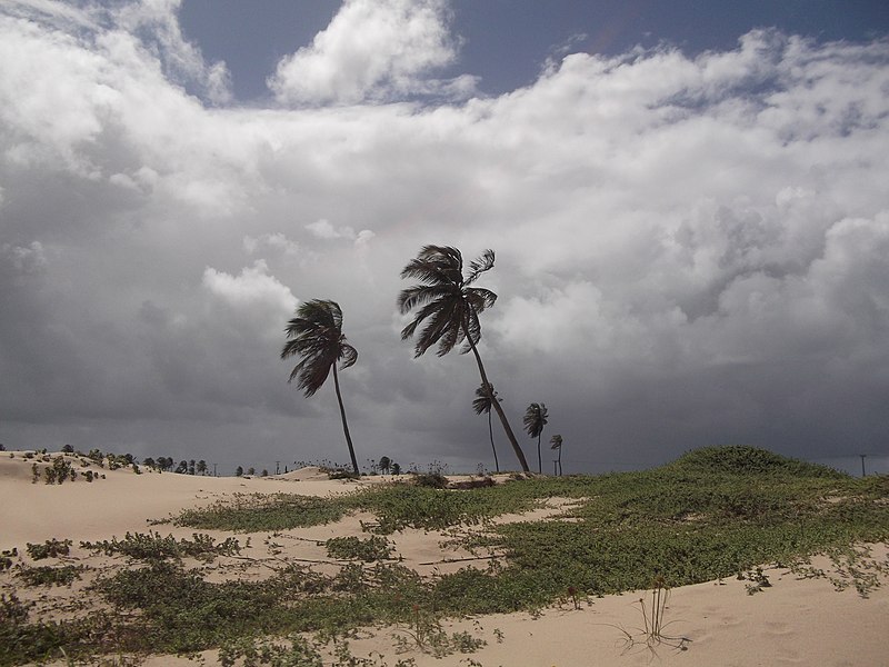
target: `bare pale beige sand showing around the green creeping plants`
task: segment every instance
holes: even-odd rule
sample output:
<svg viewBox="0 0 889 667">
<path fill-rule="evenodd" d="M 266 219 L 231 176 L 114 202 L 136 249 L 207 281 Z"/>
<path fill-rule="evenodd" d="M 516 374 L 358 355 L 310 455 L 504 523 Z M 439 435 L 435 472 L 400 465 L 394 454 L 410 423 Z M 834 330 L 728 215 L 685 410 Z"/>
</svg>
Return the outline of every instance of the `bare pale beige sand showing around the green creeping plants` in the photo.
<svg viewBox="0 0 889 667">
<path fill-rule="evenodd" d="M 58 456 L 58 455 L 53 455 Z M 22 452 L 0 454 L 0 550 L 50 538 L 71 539 L 71 560 L 89 564 L 97 571 L 121 567 L 108 557 L 79 548 L 80 540 L 123 537 L 127 531 L 158 530 L 161 535 L 190 537 L 194 530 L 171 525 L 152 526 L 151 520 L 199 507 L 236 494 L 293 492 L 329 496 L 349 492 L 381 478 L 361 481 L 329 480 L 318 469 L 307 468 L 270 478 L 212 478 L 130 469 L 108 470 L 104 479 L 48 486 L 32 484 L 31 466 Z M 79 466 L 79 458 L 70 460 Z M 43 464 L 39 464 L 43 465 Z M 530 516 L 505 520 L 546 520 L 559 512 L 563 501 L 552 499 Z M 366 536 L 361 521 L 369 516 L 352 516 L 327 526 L 279 534 L 253 534 L 246 558 L 220 558 L 203 566 L 213 580 L 232 577 L 261 578 L 273 571 L 276 563 L 311 563 L 321 571 L 336 571 L 323 541 L 333 536 Z M 210 532 L 218 539 L 231 534 Z M 236 535 L 244 544 L 244 535 Z M 450 536 L 440 532 L 406 530 L 391 537 L 404 565 L 421 574 L 444 573 L 465 567 L 473 555 L 455 549 Z M 885 545 L 875 546 L 875 557 L 886 561 Z M 27 556 L 23 561 L 30 563 Z M 47 563 L 47 561 L 44 561 Z M 52 561 L 48 561 L 53 564 Z M 480 560 L 480 567 L 485 561 Z M 42 564 L 42 563 L 41 563 Z M 193 564 L 197 566 L 198 564 Z M 819 564 L 827 566 L 826 563 Z M 766 570 L 771 587 L 748 595 L 746 581 L 726 579 L 670 591 L 666 610 L 665 639 L 649 645 L 642 628 L 639 597 L 642 593 L 580 600 L 578 608 L 566 600 L 540 614 L 495 615 L 446 624 L 449 631 L 468 630 L 487 645 L 471 655 L 441 659 L 420 650 L 397 653 L 399 628 L 376 628 L 350 643 L 352 654 L 380 654 L 391 667 L 399 659 L 412 658 L 418 667 L 593 667 L 630 665 L 712 666 L 861 666 L 889 667 L 889 586 L 861 597 L 853 588 L 837 591 L 827 579 L 800 579 L 786 569 Z M 886 584 L 883 577 L 883 584 Z M 76 596 L 86 584 L 71 588 L 24 588 L 8 570 L 0 574 L 0 590 L 13 591 L 40 605 L 47 618 L 70 613 L 66 595 Z M 217 664 L 213 651 L 201 656 L 207 665 Z M 473 661 L 470 661 L 473 660 Z M 146 665 L 193 665 L 186 658 L 157 656 Z"/>
</svg>

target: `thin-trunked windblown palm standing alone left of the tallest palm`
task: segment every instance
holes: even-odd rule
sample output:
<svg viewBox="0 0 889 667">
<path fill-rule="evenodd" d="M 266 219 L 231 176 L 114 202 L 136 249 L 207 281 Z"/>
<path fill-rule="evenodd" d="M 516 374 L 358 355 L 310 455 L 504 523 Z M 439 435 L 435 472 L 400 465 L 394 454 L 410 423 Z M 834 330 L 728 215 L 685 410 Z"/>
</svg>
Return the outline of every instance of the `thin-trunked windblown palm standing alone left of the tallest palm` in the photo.
<svg viewBox="0 0 889 667">
<path fill-rule="evenodd" d="M 290 372 L 288 382 L 292 382 L 296 378 L 297 386 L 307 398 L 323 386 L 331 369 L 333 370 L 333 388 L 337 390 L 337 400 L 340 405 L 342 430 L 346 434 L 346 444 L 349 446 L 352 470 L 356 475 L 360 475 L 337 374 L 337 362 L 339 370 L 346 370 L 358 360 L 358 351 L 346 342 L 346 336 L 342 334 L 342 310 L 336 301 L 321 299 L 306 301 L 297 308 L 297 317 L 287 322 L 284 332 L 289 340 L 281 350 L 281 359 L 302 358 Z"/>
</svg>

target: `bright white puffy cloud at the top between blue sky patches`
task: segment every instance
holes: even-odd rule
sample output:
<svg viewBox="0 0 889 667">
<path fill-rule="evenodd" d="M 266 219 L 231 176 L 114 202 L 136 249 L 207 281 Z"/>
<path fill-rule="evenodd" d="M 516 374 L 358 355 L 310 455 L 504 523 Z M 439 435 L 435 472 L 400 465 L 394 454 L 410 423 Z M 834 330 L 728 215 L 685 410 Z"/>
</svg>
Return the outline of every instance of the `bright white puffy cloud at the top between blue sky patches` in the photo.
<svg viewBox="0 0 889 667">
<path fill-rule="evenodd" d="M 286 104 L 356 104 L 412 94 L 466 99 L 475 79 L 427 78 L 456 59 L 446 0 L 347 0 L 311 47 L 278 63 L 269 88 Z"/>
</svg>

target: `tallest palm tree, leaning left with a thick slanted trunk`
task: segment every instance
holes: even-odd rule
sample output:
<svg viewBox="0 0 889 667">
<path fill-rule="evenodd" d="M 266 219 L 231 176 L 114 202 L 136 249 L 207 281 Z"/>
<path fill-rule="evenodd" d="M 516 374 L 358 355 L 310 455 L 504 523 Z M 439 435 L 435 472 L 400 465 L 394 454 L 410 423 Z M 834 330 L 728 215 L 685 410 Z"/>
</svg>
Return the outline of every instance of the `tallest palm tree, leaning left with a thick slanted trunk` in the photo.
<svg viewBox="0 0 889 667">
<path fill-rule="evenodd" d="M 401 271 L 401 278 L 420 280 L 402 289 L 398 295 L 398 307 L 401 315 L 418 308 L 413 321 L 401 330 L 401 340 L 411 338 L 417 327 L 427 322 L 417 336 L 413 356 L 419 357 L 433 345 L 438 345 L 437 355 L 442 357 L 456 345 L 466 341 L 461 354 L 472 351 L 481 375 L 481 384 L 490 385 L 477 344 L 481 340 L 479 313 L 493 306 L 497 295 L 492 291 L 470 287 L 479 276 L 493 268 L 493 250 L 486 250 L 481 257 L 469 263 L 469 275 L 463 276 L 463 257 L 457 248 L 448 246 L 423 246 L 416 259 L 410 260 Z M 492 402 L 512 449 L 528 471 L 528 461 L 519 447 L 512 428 L 509 426 L 500 401 Z"/>
</svg>

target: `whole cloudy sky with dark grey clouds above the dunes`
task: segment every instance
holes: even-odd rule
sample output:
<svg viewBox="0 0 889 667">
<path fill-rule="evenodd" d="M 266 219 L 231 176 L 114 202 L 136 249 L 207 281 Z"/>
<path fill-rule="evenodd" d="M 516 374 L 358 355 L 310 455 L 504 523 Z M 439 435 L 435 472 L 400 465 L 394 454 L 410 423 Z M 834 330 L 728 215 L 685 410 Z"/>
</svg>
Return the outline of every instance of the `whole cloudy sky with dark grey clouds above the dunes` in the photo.
<svg viewBox="0 0 889 667">
<path fill-rule="evenodd" d="M 497 253 L 532 468 L 543 402 L 545 470 L 889 472 L 887 182 L 885 2 L 4 0 L 0 442 L 348 461 L 279 359 L 322 298 L 359 462 L 490 470 L 471 355 L 399 336 L 436 243 Z"/>
</svg>

